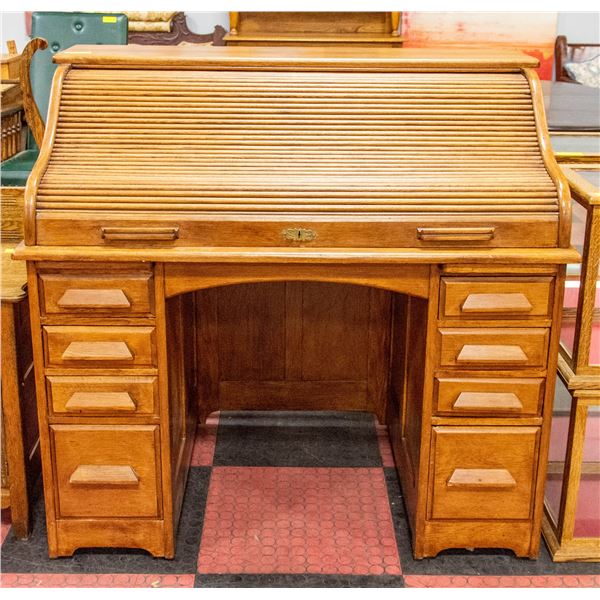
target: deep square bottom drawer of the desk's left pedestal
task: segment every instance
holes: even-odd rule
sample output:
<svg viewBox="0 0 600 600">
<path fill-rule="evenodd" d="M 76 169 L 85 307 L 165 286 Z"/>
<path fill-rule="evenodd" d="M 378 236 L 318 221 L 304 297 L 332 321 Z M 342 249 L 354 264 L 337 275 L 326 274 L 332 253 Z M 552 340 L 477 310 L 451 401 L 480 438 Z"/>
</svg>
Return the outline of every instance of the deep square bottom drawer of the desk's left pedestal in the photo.
<svg viewBox="0 0 600 600">
<path fill-rule="evenodd" d="M 159 516 L 158 426 L 53 425 L 61 517 Z"/>
</svg>

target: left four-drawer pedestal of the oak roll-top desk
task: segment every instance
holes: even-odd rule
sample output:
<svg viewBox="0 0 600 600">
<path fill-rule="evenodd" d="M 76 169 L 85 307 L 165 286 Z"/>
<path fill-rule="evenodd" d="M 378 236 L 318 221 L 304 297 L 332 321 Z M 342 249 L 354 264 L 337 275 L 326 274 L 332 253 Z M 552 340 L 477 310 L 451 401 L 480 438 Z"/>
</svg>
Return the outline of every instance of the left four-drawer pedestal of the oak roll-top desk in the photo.
<svg viewBox="0 0 600 600">
<path fill-rule="evenodd" d="M 29 266 L 52 557 L 94 546 L 174 556 L 196 402 L 173 369 L 193 311 L 169 311 L 157 271 Z"/>
</svg>

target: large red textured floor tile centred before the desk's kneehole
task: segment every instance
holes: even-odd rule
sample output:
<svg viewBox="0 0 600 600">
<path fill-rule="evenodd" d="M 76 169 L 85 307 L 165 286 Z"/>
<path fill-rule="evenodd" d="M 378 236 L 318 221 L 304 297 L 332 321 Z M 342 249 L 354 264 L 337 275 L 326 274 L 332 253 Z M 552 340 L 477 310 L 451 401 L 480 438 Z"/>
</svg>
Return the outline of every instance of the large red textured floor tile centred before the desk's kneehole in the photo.
<svg viewBox="0 0 600 600">
<path fill-rule="evenodd" d="M 400 574 L 383 470 L 215 467 L 198 570 Z"/>
</svg>

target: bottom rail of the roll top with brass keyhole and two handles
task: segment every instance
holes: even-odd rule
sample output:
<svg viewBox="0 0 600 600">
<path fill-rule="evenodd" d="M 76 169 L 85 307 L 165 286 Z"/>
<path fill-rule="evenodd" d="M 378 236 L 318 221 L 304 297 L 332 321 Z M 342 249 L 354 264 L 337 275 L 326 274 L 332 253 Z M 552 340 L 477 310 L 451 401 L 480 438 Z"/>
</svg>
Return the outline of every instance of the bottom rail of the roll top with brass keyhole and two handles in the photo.
<svg viewBox="0 0 600 600">
<path fill-rule="evenodd" d="M 378 204 L 388 205 L 381 200 Z M 314 198 L 320 210 L 328 212 L 323 198 Z M 360 204 L 360 203 L 359 203 Z M 307 205 L 310 206 L 310 205 Z M 241 247 L 315 247 L 315 248 L 555 248 L 556 216 L 512 215 L 424 216 L 406 212 L 387 212 L 368 220 L 357 216 L 356 208 L 319 216 L 264 218 L 264 211 L 240 213 L 235 220 L 215 220 L 214 216 L 196 213 L 193 219 L 128 219 L 119 215 L 101 215 L 85 220 L 73 217 L 40 220 L 37 243 L 44 245 L 114 246 L 140 242 L 160 247 L 241 246 Z M 364 204 L 362 204 L 364 206 Z M 254 212 L 254 214 L 252 214 Z"/>
</svg>

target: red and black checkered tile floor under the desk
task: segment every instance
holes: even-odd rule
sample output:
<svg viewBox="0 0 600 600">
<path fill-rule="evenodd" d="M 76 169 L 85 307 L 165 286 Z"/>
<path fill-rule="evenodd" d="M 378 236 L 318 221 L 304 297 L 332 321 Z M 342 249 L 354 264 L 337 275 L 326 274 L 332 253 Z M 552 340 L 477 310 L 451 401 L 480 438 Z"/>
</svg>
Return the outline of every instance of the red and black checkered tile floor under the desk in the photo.
<svg viewBox="0 0 600 600">
<path fill-rule="evenodd" d="M 3 587 L 600 587 L 597 563 L 448 550 L 415 561 L 385 428 L 362 413 L 222 413 L 198 431 L 174 560 L 47 558 L 2 515 Z M 6 539 L 4 539 L 6 538 Z"/>
</svg>

